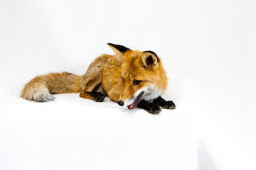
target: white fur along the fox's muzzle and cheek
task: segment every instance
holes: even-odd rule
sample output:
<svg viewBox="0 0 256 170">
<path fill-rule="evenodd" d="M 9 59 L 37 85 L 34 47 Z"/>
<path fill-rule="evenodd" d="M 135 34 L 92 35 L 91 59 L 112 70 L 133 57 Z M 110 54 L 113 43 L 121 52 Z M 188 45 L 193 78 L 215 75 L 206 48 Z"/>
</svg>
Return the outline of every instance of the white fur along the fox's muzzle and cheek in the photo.
<svg viewBox="0 0 256 170">
<path fill-rule="evenodd" d="M 139 96 L 139 94 L 142 93 L 142 91 L 144 91 L 142 99 L 149 102 L 152 102 L 155 98 L 158 98 L 161 95 L 161 89 L 157 89 L 155 85 L 144 87 L 142 89 L 139 89 L 139 91 L 137 91 L 132 98 L 127 98 L 124 101 L 124 106 L 132 104 L 135 98 L 137 98 L 137 96 Z"/>
</svg>

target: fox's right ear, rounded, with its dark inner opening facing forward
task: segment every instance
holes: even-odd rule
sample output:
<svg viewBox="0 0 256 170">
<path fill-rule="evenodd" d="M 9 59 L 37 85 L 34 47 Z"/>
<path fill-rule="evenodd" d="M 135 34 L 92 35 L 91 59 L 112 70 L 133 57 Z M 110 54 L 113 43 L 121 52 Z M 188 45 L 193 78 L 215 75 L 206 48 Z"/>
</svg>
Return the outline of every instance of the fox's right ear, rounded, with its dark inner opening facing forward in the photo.
<svg viewBox="0 0 256 170">
<path fill-rule="evenodd" d="M 157 69 L 159 67 L 159 58 L 152 51 L 142 52 L 142 63 L 148 69 Z"/>
</svg>

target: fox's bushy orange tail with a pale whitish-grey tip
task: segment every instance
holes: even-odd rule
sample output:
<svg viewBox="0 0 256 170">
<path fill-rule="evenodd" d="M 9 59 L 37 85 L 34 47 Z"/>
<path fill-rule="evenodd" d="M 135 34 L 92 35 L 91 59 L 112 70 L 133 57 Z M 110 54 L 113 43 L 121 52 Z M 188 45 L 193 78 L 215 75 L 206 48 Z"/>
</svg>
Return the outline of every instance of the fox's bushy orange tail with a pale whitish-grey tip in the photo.
<svg viewBox="0 0 256 170">
<path fill-rule="evenodd" d="M 53 101 L 52 94 L 79 93 L 81 81 L 82 76 L 68 72 L 38 76 L 24 86 L 21 97 L 30 101 Z"/>
</svg>

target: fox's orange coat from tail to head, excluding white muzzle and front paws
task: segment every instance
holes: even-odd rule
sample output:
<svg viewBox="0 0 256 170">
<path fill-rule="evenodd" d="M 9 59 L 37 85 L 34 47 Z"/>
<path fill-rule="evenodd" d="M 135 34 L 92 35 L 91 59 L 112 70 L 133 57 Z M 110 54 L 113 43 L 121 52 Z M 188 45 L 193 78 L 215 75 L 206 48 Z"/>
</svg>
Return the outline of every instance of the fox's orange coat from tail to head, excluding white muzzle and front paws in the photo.
<svg viewBox="0 0 256 170">
<path fill-rule="evenodd" d="M 157 91 L 165 91 L 167 77 L 161 60 L 151 52 L 126 49 L 118 50 L 109 44 L 116 55 L 97 57 L 87 69 L 78 76 L 69 73 L 51 73 L 36 77 L 21 91 L 21 97 L 32 101 L 50 101 L 51 94 L 78 93 L 80 97 L 94 99 L 92 91 L 107 94 L 112 101 L 125 101 L 137 91 L 154 86 Z M 134 85 L 134 81 L 141 81 Z"/>
</svg>

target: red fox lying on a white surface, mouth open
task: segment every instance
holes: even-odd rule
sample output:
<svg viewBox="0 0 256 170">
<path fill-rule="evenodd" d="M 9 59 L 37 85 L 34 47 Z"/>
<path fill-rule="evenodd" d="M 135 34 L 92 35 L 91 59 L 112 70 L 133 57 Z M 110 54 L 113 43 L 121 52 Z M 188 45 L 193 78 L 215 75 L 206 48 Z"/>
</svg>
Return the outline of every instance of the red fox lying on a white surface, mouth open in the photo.
<svg viewBox="0 0 256 170">
<path fill-rule="evenodd" d="M 53 94 L 80 93 L 81 98 L 110 101 L 129 110 L 142 108 L 159 114 L 161 108 L 175 109 L 173 101 L 161 98 L 167 88 L 166 72 L 153 51 L 131 50 L 107 43 L 115 55 L 101 55 L 83 75 L 50 73 L 31 79 L 22 89 L 21 98 L 29 101 L 53 101 Z"/>
</svg>

